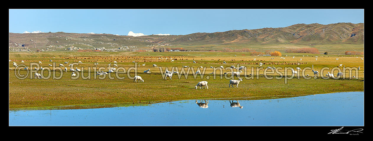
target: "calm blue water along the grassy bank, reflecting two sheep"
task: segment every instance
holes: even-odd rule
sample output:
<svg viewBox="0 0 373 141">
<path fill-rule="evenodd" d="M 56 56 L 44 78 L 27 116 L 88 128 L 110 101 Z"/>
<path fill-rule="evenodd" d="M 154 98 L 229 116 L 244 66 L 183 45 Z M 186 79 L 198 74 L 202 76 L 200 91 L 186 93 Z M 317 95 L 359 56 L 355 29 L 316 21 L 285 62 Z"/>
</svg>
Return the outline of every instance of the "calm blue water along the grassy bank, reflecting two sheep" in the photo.
<svg viewBox="0 0 373 141">
<path fill-rule="evenodd" d="M 242 109 L 231 107 L 229 100 L 209 100 L 207 108 L 195 100 L 183 100 L 148 106 L 9 111 L 9 126 L 364 126 L 364 92 L 238 102 Z"/>
</svg>

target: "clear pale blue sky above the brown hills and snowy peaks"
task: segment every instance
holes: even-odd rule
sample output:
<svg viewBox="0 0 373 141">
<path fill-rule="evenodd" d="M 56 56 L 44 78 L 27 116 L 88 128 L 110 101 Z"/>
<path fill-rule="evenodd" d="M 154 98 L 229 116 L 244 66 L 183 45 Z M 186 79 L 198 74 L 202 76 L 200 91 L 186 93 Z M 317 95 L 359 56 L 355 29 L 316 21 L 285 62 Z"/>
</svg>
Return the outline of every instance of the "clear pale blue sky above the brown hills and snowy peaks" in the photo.
<svg viewBox="0 0 373 141">
<path fill-rule="evenodd" d="M 186 35 L 364 22 L 364 9 L 9 9 L 9 32 Z"/>
</svg>

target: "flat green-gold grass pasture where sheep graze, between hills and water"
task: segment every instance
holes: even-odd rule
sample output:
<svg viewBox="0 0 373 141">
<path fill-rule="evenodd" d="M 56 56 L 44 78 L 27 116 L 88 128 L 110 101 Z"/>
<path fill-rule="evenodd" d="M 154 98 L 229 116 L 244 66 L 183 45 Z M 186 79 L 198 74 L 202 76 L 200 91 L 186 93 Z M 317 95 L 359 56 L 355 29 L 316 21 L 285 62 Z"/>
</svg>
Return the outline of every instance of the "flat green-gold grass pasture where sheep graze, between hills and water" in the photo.
<svg viewBox="0 0 373 141">
<path fill-rule="evenodd" d="M 234 55 L 237 55 L 236 57 Z M 288 55 L 286 57 L 286 55 Z M 304 55 L 304 56 L 303 56 Z M 308 57 L 307 57 L 308 55 Z M 291 56 L 295 56 L 292 58 Z M 314 56 L 318 56 L 317 60 Z M 170 61 L 170 57 L 175 59 Z M 279 96 L 301 96 L 310 94 L 323 94 L 344 91 L 364 91 L 364 56 L 338 56 L 321 55 L 321 54 L 300 54 L 300 53 L 283 53 L 280 59 L 279 56 L 250 56 L 250 53 L 244 52 L 203 52 L 203 51 L 183 51 L 183 52 L 9 52 L 9 60 L 16 62 L 18 65 L 24 64 L 29 66 L 29 63 L 42 62 L 40 66 L 50 67 L 48 64 L 56 63 L 68 64 L 81 61 L 83 64 L 75 65 L 78 69 L 82 69 L 84 76 L 88 76 L 88 67 L 104 67 L 103 71 L 107 71 L 108 64 L 113 65 L 113 61 L 118 62 L 118 67 L 123 67 L 128 71 L 130 67 L 134 67 L 135 61 L 137 65 L 137 75 L 144 79 L 144 82 L 133 82 L 129 79 L 127 74 L 119 74 L 124 79 L 115 77 L 110 79 L 108 75 L 104 79 L 102 76 L 96 76 L 94 79 L 94 71 L 91 71 L 91 79 L 72 79 L 71 72 L 63 72 L 60 79 L 30 79 L 30 74 L 26 79 L 18 79 L 15 76 L 15 67 L 12 62 L 9 62 L 9 108 L 21 107 L 39 107 L 39 106 L 63 106 L 63 105 L 78 105 L 78 104 L 103 104 L 103 103 L 138 103 L 153 101 L 169 101 L 169 100 L 186 100 L 186 99 L 201 99 L 201 98 L 232 98 L 232 97 L 279 97 Z M 161 58 L 161 59 L 159 59 Z M 167 58 L 167 59 L 166 59 Z M 271 59 L 274 58 L 274 59 Z M 336 60 L 339 58 L 339 60 Z M 256 60 L 254 60 L 256 59 Z M 300 60 L 302 59 L 302 60 Z M 21 63 L 23 60 L 25 63 Z M 53 60 L 53 62 L 49 62 Z M 196 63 L 193 63 L 195 61 Z M 227 64 L 223 64 L 225 61 Z M 99 62 L 98 65 L 94 65 Z M 263 63 L 259 66 L 259 63 Z M 299 65 L 298 65 L 299 63 Z M 145 64 L 145 66 L 142 66 Z M 203 78 L 200 75 L 189 74 L 188 79 L 185 75 L 174 74 L 172 80 L 167 77 L 167 80 L 162 78 L 160 68 L 152 67 L 156 64 L 162 67 L 163 71 L 166 67 L 171 70 L 172 67 L 178 67 L 178 72 L 181 72 L 183 66 L 190 66 L 194 71 L 198 67 L 203 66 L 205 73 Z M 234 65 L 246 66 L 247 73 L 241 73 L 243 81 L 239 83 L 238 88 L 228 88 L 230 78 L 220 79 L 220 74 L 230 72 L 231 70 L 222 69 L 223 72 L 217 70 L 214 75 L 209 74 L 213 72 L 214 68 L 223 66 L 229 68 Z M 300 76 L 299 79 L 276 79 L 279 77 L 277 73 L 270 74 L 273 79 L 264 78 L 263 69 L 267 66 L 274 66 L 280 69 L 279 72 L 285 73 L 285 67 L 300 67 L 302 71 L 306 67 L 310 67 L 321 71 L 322 68 L 327 67 L 330 70 L 333 67 L 342 64 L 342 67 L 358 67 L 359 79 L 350 79 L 351 75 L 346 73 L 346 78 L 339 79 L 322 79 L 321 76 L 314 79 L 305 79 Z M 29 66 L 30 67 L 30 66 Z M 65 65 L 66 68 L 70 68 Z M 118 68 L 115 67 L 115 68 Z M 251 72 L 251 67 L 254 67 L 254 72 Z M 257 68 L 258 67 L 258 68 Z M 260 69 L 260 67 L 263 67 Z M 342 69 L 342 67 L 339 67 Z M 51 67 L 50 67 L 51 68 Z M 112 68 L 112 67 L 111 67 Z M 33 68 L 32 68 L 33 69 Z M 39 68 L 40 69 L 40 68 Z M 143 71 L 150 69 L 151 73 L 143 73 Z M 185 71 L 188 68 L 185 68 Z M 260 70 L 259 70 L 260 69 Z M 202 68 L 200 68 L 203 71 Z M 123 72 L 123 70 L 117 70 Z M 268 71 L 271 72 L 271 71 Z M 19 71 L 20 74 L 27 74 L 26 70 Z M 38 73 L 41 73 L 39 70 Z M 60 72 L 55 72 L 57 76 Z M 192 72 L 191 72 L 192 73 Z M 253 75 L 250 75 L 253 74 Z M 287 77 L 291 77 L 291 70 L 287 70 Z M 336 76 L 336 73 L 334 75 Z M 258 74 L 258 75 L 257 75 Z M 306 70 L 304 75 L 313 76 L 311 70 Z M 326 73 L 323 74 L 325 76 Z M 32 74 L 33 75 L 33 74 Z M 47 76 L 48 73 L 44 74 Z M 81 75 L 81 73 L 79 73 Z M 115 73 L 111 73 L 115 76 Z M 133 77 L 134 70 L 131 71 L 130 76 Z M 321 74 L 320 74 L 321 75 Z M 352 75 L 356 75 L 352 71 Z M 180 78 L 179 78 L 180 76 Z M 196 77 L 194 79 L 194 76 Z M 231 76 L 230 74 L 227 75 Z M 247 78 L 252 79 L 245 79 Z M 33 77 L 33 76 L 32 76 Z M 308 78 L 308 77 L 306 77 Z M 234 77 L 234 79 L 237 79 Z M 200 81 L 208 81 L 209 89 L 195 90 L 195 85 Z"/>
</svg>

